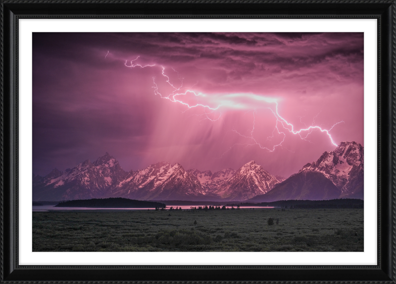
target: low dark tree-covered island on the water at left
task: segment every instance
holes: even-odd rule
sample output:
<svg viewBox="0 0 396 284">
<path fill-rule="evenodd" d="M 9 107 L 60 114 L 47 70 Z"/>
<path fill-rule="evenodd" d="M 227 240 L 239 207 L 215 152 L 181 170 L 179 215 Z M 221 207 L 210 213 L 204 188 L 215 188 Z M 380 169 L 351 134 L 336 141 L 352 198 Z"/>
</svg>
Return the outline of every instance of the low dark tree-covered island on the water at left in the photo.
<svg viewBox="0 0 396 284">
<path fill-rule="evenodd" d="M 80 199 L 61 201 L 55 207 L 94 207 L 94 208 L 165 208 L 166 205 L 159 202 L 133 200 L 128 198 L 103 198 L 103 199 Z"/>
</svg>

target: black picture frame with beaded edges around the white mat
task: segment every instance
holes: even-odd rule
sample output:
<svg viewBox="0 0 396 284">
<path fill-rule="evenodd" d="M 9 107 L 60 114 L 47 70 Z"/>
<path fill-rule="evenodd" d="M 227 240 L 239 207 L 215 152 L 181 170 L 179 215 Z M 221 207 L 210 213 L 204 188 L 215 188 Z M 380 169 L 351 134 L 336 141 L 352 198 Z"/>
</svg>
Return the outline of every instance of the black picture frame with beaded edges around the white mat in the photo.
<svg viewBox="0 0 396 284">
<path fill-rule="evenodd" d="M 396 283 L 396 1 L 1 0 L 1 283 Z M 378 21 L 378 265 L 20 266 L 18 19 L 375 18 Z"/>
</svg>

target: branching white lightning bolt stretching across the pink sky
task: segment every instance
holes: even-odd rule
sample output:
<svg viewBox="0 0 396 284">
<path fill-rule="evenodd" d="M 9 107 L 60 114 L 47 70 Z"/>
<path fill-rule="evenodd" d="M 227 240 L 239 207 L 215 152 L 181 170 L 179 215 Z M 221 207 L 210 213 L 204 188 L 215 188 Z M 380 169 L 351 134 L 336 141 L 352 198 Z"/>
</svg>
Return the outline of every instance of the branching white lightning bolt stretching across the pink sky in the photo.
<svg viewBox="0 0 396 284">
<path fill-rule="evenodd" d="M 132 61 L 130 61 L 130 65 L 127 64 L 128 60 L 126 60 L 125 61 L 125 66 L 130 67 L 130 68 L 133 68 L 133 67 L 145 68 L 145 67 L 157 66 L 156 64 L 141 65 L 141 64 L 138 64 L 138 63 L 134 63 L 134 61 L 138 60 L 139 57 L 140 56 L 138 56 L 138 57 L 136 57 L 136 59 L 133 59 Z M 282 143 L 285 141 L 285 138 L 286 138 L 286 133 L 285 132 L 289 132 L 291 134 L 298 135 L 302 140 L 310 142 L 309 140 L 306 140 L 307 137 L 309 136 L 309 134 L 311 134 L 313 130 L 319 130 L 319 131 L 325 133 L 329 137 L 330 142 L 334 146 L 337 146 L 337 143 L 334 141 L 333 137 L 331 136 L 330 131 L 336 125 L 338 125 L 339 123 L 345 123 L 343 120 L 335 123 L 330 129 L 323 129 L 320 126 L 313 125 L 315 123 L 315 118 L 320 114 L 320 112 L 313 118 L 312 125 L 310 125 L 309 127 L 306 126 L 306 124 L 301 121 L 301 116 L 299 116 L 300 117 L 300 122 L 302 124 L 304 124 L 305 128 L 301 128 L 299 130 L 295 130 L 295 126 L 292 123 L 288 122 L 284 117 L 282 117 L 279 114 L 279 111 L 278 111 L 278 100 L 277 99 L 267 98 L 267 97 L 258 96 L 258 95 L 254 95 L 254 94 L 226 94 L 226 95 L 222 95 L 221 96 L 220 102 L 216 102 L 216 100 L 214 100 L 213 105 L 211 105 L 211 106 L 210 105 L 206 105 L 206 104 L 202 104 L 202 103 L 199 103 L 199 99 L 203 99 L 204 100 L 205 98 L 210 98 L 210 96 L 208 96 L 206 94 L 203 94 L 203 93 L 198 93 L 198 92 L 196 92 L 194 90 L 191 90 L 192 87 L 191 88 L 183 87 L 183 79 L 184 78 L 182 78 L 180 76 L 179 72 L 177 72 L 175 69 L 172 68 L 173 72 L 177 73 L 177 78 L 179 79 L 179 81 L 181 81 L 180 86 L 176 86 L 174 83 L 171 83 L 171 80 L 170 80 L 169 76 L 167 74 L 165 74 L 165 67 L 163 67 L 161 65 L 158 65 L 158 66 L 160 66 L 162 68 L 161 75 L 165 79 L 165 82 L 173 89 L 173 91 L 171 93 L 167 94 L 167 95 L 161 94 L 161 92 L 159 91 L 159 87 L 158 87 L 157 83 L 155 82 L 155 77 L 153 77 L 152 78 L 152 80 L 153 80 L 152 88 L 154 89 L 154 94 L 159 96 L 161 99 L 169 100 L 170 102 L 178 103 L 178 104 L 181 104 L 181 105 L 187 107 L 187 109 L 184 112 L 186 112 L 188 110 L 191 110 L 191 109 L 194 109 L 194 108 L 202 108 L 203 109 L 203 114 L 195 114 L 195 115 L 204 115 L 204 116 L 206 116 L 202 120 L 204 120 L 204 119 L 209 119 L 210 121 L 219 120 L 221 115 L 222 115 L 221 114 L 221 110 L 220 110 L 221 107 L 223 107 L 223 108 L 234 108 L 234 109 L 247 108 L 247 106 L 244 105 L 243 103 L 238 103 L 238 99 L 242 98 L 242 97 L 250 99 L 253 102 L 254 101 L 259 101 L 260 103 L 264 102 L 264 103 L 268 103 L 268 104 L 275 104 L 275 108 L 274 109 L 273 108 L 267 108 L 267 109 L 269 109 L 272 112 L 272 114 L 276 118 L 276 123 L 275 123 L 274 130 L 272 131 L 272 136 L 268 136 L 266 141 L 272 140 L 274 138 L 274 135 L 278 134 L 281 137 L 283 137 L 282 140 L 278 144 L 273 145 L 272 147 L 266 147 L 262 143 L 260 143 L 257 140 L 257 138 L 254 137 L 254 127 L 255 127 L 255 123 L 256 123 L 255 120 L 256 120 L 256 114 L 257 114 L 256 109 L 254 109 L 253 110 L 253 124 L 252 124 L 252 129 L 251 129 L 249 135 L 244 135 L 241 132 L 237 131 L 235 128 L 232 129 L 232 132 L 236 133 L 240 137 L 249 139 L 250 142 L 248 142 L 248 143 L 236 143 L 236 144 L 232 145 L 231 147 L 229 147 L 229 149 L 226 152 L 224 152 L 221 155 L 221 157 L 223 157 L 227 152 L 229 152 L 232 148 L 234 148 L 235 146 L 238 146 L 238 145 L 239 146 L 244 146 L 244 147 L 256 145 L 256 146 L 260 147 L 261 149 L 267 150 L 269 152 L 275 151 L 275 149 L 277 147 L 284 148 L 282 146 Z M 182 90 L 185 90 L 185 91 L 183 92 Z M 187 103 L 187 102 L 183 101 L 183 98 L 184 98 L 183 96 L 187 96 L 187 95 L 195 96 L 197 98 L 198 103 L 190 104 L 190 103 Z M 255 103 L 257 103 L 257 102 L 255 102 Z M 218 117 L 216 119 L 211 118 L 209 115 L 213 114 L 216 111 L 219 112 Z M 247 113 L 245 113 L 245 114 L 247 114 Z M 312 143 L 312 142 L 310 142 L 310 143 Z M 287 149 L 287 150 L 290 151 L 289 149 Z"/>
</svg>

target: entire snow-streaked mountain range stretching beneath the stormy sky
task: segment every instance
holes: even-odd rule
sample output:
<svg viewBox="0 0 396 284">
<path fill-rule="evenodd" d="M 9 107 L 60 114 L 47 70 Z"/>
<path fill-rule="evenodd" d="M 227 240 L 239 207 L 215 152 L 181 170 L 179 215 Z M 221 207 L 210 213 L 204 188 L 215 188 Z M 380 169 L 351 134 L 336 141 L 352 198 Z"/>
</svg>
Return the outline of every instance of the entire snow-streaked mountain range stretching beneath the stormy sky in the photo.
<svg viewBox="0 0 396 284">
<path fill-rule="evenodd" d="M 33 175 L 34 201 L 123 197 L 138 200 L 251 201 L 285 199 L 363 199 L 363 147 L 341 142 L 285 179 L 250 161 L 238 170 L 185 170 L 160 162 L 143 170 L 124 171 L 106 153 L 65 171 Z"/>
</svg>

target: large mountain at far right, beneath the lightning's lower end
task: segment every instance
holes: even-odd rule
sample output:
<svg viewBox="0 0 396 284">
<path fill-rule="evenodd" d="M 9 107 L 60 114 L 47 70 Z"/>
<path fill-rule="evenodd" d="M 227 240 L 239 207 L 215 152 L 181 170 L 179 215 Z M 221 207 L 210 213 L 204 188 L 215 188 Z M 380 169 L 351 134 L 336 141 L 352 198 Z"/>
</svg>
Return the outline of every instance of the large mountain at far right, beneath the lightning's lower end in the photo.
<svg viewBox="0 0 396 284">
<path fill-rule="evenodd" d="M 316 162 L 276 184 L 268 194 L 247 201 L 363 199 L 363 150 L 356 142 L 341 142 L 334 151 L 324 152 Z"/>
</svg>

